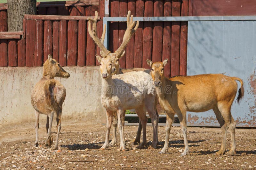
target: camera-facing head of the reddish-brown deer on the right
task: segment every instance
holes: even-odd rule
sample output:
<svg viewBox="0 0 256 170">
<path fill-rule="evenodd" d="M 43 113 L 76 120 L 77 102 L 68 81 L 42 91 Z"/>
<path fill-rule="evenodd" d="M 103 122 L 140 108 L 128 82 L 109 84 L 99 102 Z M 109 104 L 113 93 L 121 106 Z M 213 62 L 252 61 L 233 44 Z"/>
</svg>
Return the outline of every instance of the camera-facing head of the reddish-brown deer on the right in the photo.
<svg viewBox="0 0 256 170">
<path fill-rule="evenodd" d="M 164 66 L 167 64 L 168 59 L 165 59 L 163 62 L 153 63 L 151 60 L 147 60 L 147 64 L 151 67 L 151 76 L 153 83 L 156 87 L 162 85 L 164 79 Z"/>
</svg>

